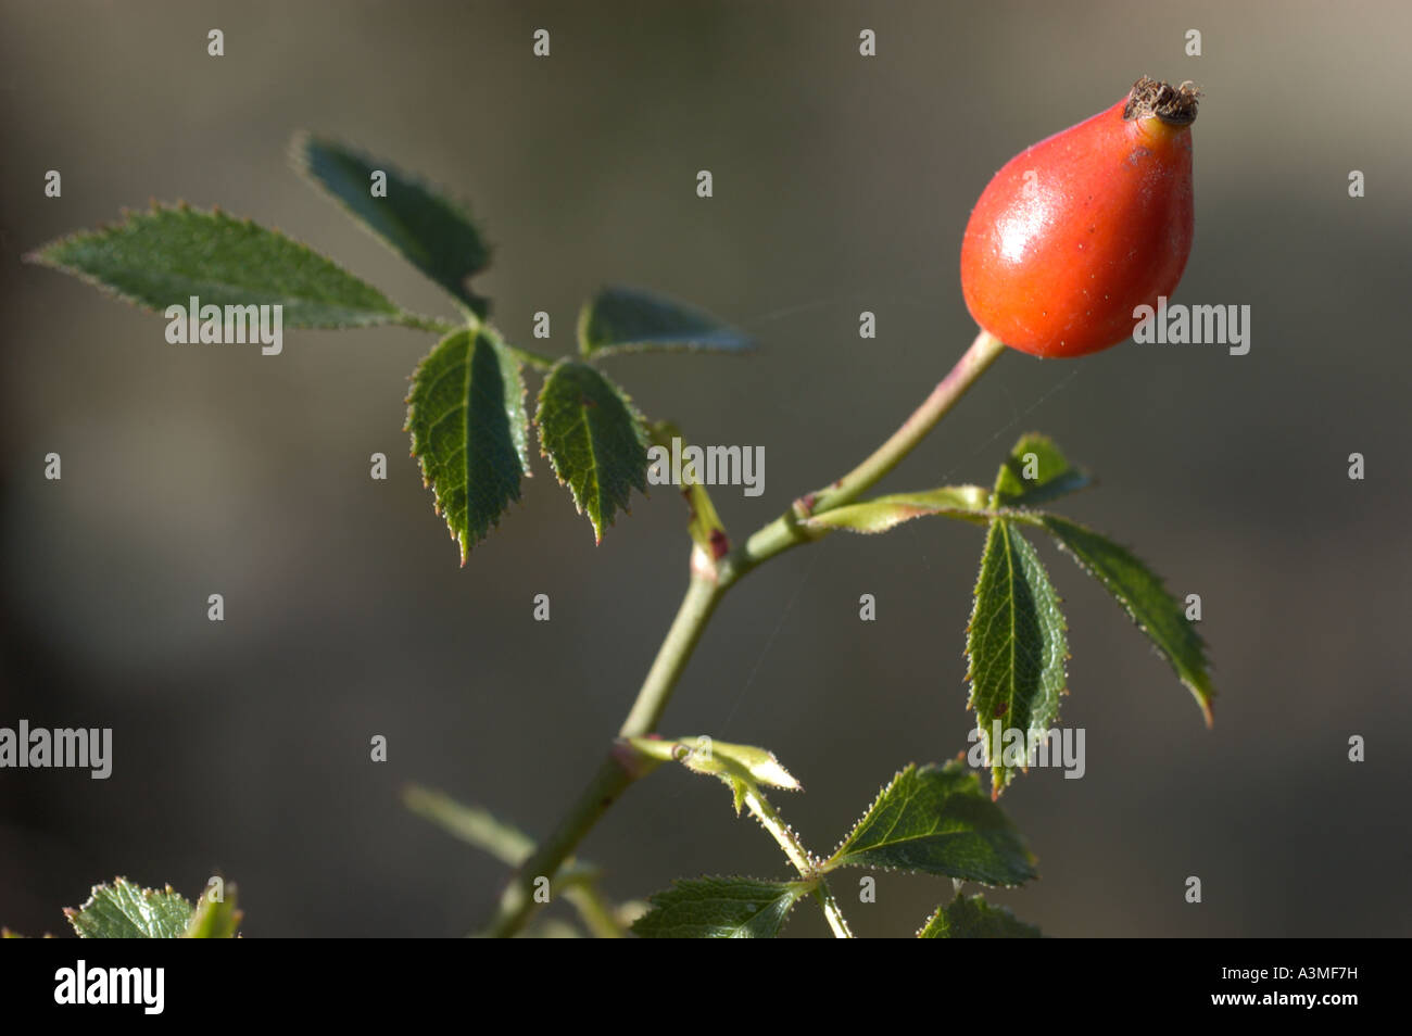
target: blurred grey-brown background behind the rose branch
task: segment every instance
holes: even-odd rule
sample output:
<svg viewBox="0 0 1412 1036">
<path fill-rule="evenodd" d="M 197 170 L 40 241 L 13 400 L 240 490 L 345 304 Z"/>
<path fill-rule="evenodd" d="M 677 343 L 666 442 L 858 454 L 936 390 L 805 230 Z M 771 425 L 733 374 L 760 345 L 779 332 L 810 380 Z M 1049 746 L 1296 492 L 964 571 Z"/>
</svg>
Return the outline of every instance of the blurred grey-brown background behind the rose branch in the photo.
<svg viewBox="0 0 1412 1036">
<path fill-rule="evenodd" d="M 548 830 L 617 728 L 688 553 L 665 491 L 594 549 L 539 462 L 460 569 L 401 430 L 431 337 L 288 332 L 278 359 L 172 349 L 160 315 L 23 264 L 30 248 L 184 198 L 450 315 L 289 171 L 295 130 L 345 137 L 470 200 L 497 247 L 479 287 L 511 339 L 530 343 L 544 309 L 548 347 L 570 350 L 602 284 L 755 335 L 750 359 L 611 361 L 690 438 L 764 445 L 764 497 L 716 493 L 741 534 L 861 459 L 970 342 L 957 251 L 988 176 L 1148 73 L 1206 92 L 1178 301 L 1250 305 L 1250 354 L 1007 356 L 885 487 L 987 481 L 1021 432 L 1053 435 L 1101 477 L 1069 511 L 1202 594 L 1217 723 L 1041 545 L 1067 601 L 1062 723 L 1087 730 L 1087 775 L 1032 772 L 1007 792 L 1042 879 L 997 898 L 1059 936 L 1412 934 L 1405 4 L 0 11 L 0 724 L 110 725 L 116 741 L 106 782 L 0 772 L 6 924 L 64 933 L 59 908 L 114 874 L 193 895 L 219 871 L 249 936 L 467 932 L 505 871 L 407 813 L 400 789 Z M 541 27 L 548 59 L 531 56 Z M 877 58 L 858 56 L 864 27 Z M 710 200 L 695 196 L 702 168 Z M 47 169 L 61 199 L 42 195 Z M 48 452 L 62 481 L 42 476 Z M 373 452 L 385 483 L 369 478 Z M 1351 452 L 1364 481 L 1347 477 Z M 774 562 L 722 607 L 664 733 L 775 749 L 808 789 L 786 817 L 830 848 L 895 769 L 966 747 L 980 545 L 916 522 Z M 548 624 L 531 621 L 537 593 Z M 373 734 L 387 764 L 369 761 Z M 1353 734 L 1368 738 L 1361 765 Z M 633 789 L 583 854 L 618 899 L 675 877 L 785 874 L 719 786 L 678 771 Z M 1200 905 L 1183 901 L 1187 875 Z M 850 915 L 860 934 L 908 934 L 949 892 L 881 875 L 878 902 Z M 826 929 L 802 909 L 788 933 Z"/>
</svg>

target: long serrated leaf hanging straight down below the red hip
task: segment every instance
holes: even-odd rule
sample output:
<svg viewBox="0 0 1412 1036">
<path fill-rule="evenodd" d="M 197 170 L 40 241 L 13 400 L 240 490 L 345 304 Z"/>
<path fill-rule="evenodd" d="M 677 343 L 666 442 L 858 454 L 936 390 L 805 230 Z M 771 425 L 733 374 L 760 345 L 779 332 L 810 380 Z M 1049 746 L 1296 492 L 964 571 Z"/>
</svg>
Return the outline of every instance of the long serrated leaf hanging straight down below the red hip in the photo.
<svg viewBox="0 0 1412 1036">
<path fill-rule="evenodd" d="M 967 707 L 976 710 L 994 797 L 1015 769 L 1028 769 L 1029 745 L 1038 745 L 1059 716 L 1069 658 L 1059 594 L 1035 548 L 1007 518 L 993 521 L 986 536 L 966 658 Z"/>
</svg>

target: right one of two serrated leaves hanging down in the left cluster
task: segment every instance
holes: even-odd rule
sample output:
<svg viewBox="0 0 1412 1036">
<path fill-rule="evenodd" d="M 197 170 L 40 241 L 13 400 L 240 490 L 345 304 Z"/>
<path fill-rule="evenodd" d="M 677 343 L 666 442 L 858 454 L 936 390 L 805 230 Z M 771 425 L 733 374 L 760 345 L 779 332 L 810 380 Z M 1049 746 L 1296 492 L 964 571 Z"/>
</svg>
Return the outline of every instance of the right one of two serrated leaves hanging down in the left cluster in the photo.
<svg viewBox="0 0 1412 1036">
<path fill-rule="evenodd" d="M 635 487 L 647 493 L 647 428 L 621 388 L 576 360 L 559 360 L 539 390 L 539 446 L 579 514 L 593 522 L 594 542 L 628 510 Z"/>
</svg>

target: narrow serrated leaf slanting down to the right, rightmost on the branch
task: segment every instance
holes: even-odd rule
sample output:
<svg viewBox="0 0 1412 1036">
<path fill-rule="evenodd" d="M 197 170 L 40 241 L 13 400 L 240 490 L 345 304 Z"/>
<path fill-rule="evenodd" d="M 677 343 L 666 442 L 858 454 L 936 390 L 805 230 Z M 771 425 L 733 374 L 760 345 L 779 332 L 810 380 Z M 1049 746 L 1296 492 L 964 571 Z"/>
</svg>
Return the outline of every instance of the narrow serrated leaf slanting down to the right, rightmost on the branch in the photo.
<svg viewBox="0 0 1412 1036">
<path fill-rule="evenodd" d="M 1178 679 L 1196 697 L 1206 725 L 1211 725 L 1211 689 L 1206 644 L 1162 580 L 1130 550 L 1067 518 L 1038 514 L 1028 518 L 1043 528 L 1079 567 L 1097 579 L 1147 634 Z"/>
</svg>

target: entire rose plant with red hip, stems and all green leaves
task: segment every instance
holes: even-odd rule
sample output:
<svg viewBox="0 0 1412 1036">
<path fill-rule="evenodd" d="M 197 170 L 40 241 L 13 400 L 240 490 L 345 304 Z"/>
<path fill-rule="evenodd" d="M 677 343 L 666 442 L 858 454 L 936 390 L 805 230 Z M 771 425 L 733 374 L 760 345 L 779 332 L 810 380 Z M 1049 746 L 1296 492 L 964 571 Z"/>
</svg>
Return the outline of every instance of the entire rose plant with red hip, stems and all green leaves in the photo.
<svg viewBox="0 0 1412 1036">
<path fill-rule="evenodd" d="M 950 879 L 952 898 L 921 924 L 921 937 L 1038 934 L 983 896 L 960 891 L 964 882 L 1017 886 L 1038 877 L 1034 854 L 997 805 L 1018 773 L 1042 765 L 1039 740 L 1058 733 L 1059 704 L 1069 692 L 1062 601 L 1029 536 L 1051 539 L 1108 591 L 1210 723 L 1214 692 L 1193 625 L 1197 617 L 1183 613 L 1127 548 L 1051 510 L 1090 478 L 1043 435 L 1021 436 L 987 484 L 867 493 L 1007 347 L 1045 359 L 1111 347 L 1131 335 L 1142 308 L 1176 289 L 1195 226 L 1197 96 L 1190 83 L 1138 79 L 1115 104 L 1001 167 L 971 210 L 960 250 L 962 295 L 980 330 L 922 405 L 854 469 L 737 542 L 716 514 L 703 484 L 709 480 L 681 473 L 692 542 L 686 593 L 617 738 L 546 837 L 531 838 L 441 793 L 408 789 L 408 807 L 513 868 L 484 934 L 513 936 L 534 932 L 532 926 L 542 932 L 535 908 L 563 899 L 583 929 L 602 937 L 624 934 L 630 922 L 642 937 L 774 937 L 796 903 L 815 901 L 830 930 L 850 937 L 829 889 L 829 875 L 846 867 Z M 405 430 L 462 565 L 520 500 L 532 469 L 532 442 L 587 517 L 594 542 L 614 525 L 634 490 L 647 491 L 651 450 L 672 443 L 676 456 L 681 433 L 669 422 L 644 416 L 602 370 L 603 357 L 743 351 L 754 344 L 683 302 L 611 287 L 580 311 L 572 354 L 524 349 L 496 327 L 490 301 L 474 289 L 490 248 L 463 203 L 335 140 L 298 134 L 292 159 L 315 188 L 436 284 L 460 319 L 412 313 L 282 233 L 185 203 L 128 212 L 114 226 L 55 240 L 28 258 L 165 315 L 171 346 L 256 342 L 251 320 L 263 356 L 278 356 L 282 347 L 280 330 L 264 340 L 268 327 L 394 326 L 436 335 L 438 343 L 411 377 Z M 538 326 L 541 316 L 546 315 L 537 315 L 535 337 L 548 337 L 548 320 Z M 527 377 L 539 381 L 532 397 Z M 652 481 L 661 481 L 655 474 Z M 767 786 L 799 790 L 772 752 L 709 735 L 664 740 L 658 728 L 706 625 L 740 579 L 832 532 L 877 535 L 933 517 L 984 532 L 966 628 L 973 748 L 945 765 L 898 771 L 834 851 L 816 857 L 764 793 Z M 722 779 L 737 816 L 748 810 L 761 823 L 792 877 L 679 879 L 650 896 L 635 920 L 628 906 L 610 903 L 599 868 L 575 851 L 623 792 L 664 762 Z M 981 771 L 990 773 L 988 796 Z M 205 898 L 193 906 L 171 889 L 121 879 L 95 886 L 90 902 L 71 919 L 80 936 L 99 937 L 232 936 L 239 924 L 233 908 L 208 908 Z"/>
</svg>

